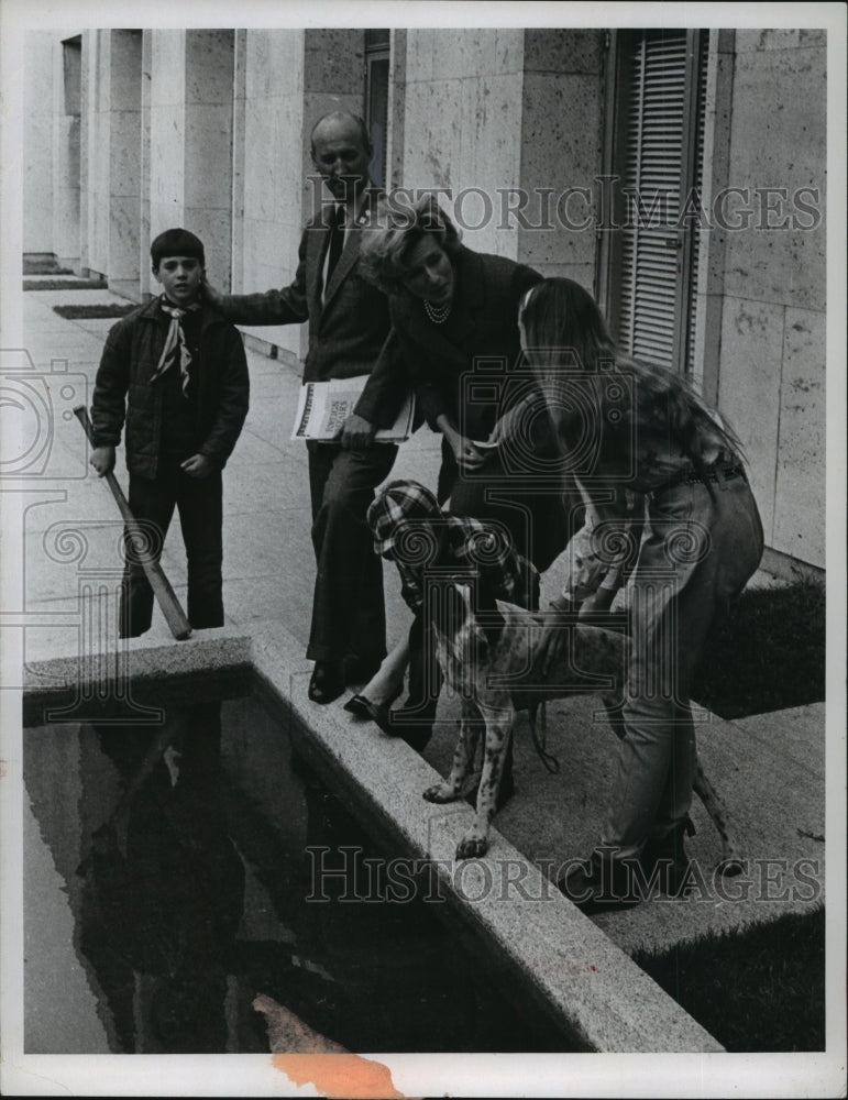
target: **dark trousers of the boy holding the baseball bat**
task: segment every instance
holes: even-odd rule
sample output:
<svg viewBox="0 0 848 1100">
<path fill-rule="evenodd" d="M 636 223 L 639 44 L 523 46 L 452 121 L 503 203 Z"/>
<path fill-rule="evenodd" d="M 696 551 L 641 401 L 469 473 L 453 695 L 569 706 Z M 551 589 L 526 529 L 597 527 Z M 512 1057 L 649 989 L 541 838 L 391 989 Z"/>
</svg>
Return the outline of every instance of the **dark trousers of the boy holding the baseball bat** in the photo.
<svg viewBox="0 0 848 1100">
<path fill-rule="evenodd" d="M 176 460 L 163 460 L 153 480 L 130 474 L 130 508 L 151 534 L 158 560 L 174 508 L 179 513 L 188 564 L 188 620 L 195 629 L 223 626 L 221 595 L 221 471 L 189 477 Z M 120 636 L 136 638 L 150 629 L 153 590 L 124 532 L 125 565 L 121 586 Z"/>
</svg>

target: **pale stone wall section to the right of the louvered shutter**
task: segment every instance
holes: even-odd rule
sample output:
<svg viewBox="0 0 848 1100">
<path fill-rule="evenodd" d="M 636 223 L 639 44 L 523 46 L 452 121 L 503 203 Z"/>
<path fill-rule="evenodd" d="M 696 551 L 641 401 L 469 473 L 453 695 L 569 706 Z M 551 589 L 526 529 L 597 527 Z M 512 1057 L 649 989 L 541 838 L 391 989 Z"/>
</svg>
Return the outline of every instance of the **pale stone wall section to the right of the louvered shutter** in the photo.
<svg viewBox="0 0 848 1100">
<path fill-rule="evenodd" d="M 735 186 L 817 187 L 823 209 L 825 61 L 824 31 L 736 32 Z M 825 238 L 824 221 L 727 233 L 718 378 L 719 406 L 748 448 L 767 543 L 815 565 L 825 538 Z"/>
</svg>

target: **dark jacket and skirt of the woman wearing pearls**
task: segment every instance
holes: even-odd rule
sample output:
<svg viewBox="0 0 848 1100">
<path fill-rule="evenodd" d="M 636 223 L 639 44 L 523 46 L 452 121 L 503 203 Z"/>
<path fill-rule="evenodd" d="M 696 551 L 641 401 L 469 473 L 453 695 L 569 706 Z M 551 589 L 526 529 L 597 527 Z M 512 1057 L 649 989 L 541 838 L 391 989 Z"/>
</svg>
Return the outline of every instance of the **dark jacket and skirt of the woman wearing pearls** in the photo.
<svg viewBox="0 0 848 1100">
<path fill-rule="evenodd" d="M 418 409 L 434 430 L 445 414 L 470 439 L 488 438 L 496 420 L 531 386 L 522 367 L 518 309 L 542 276 L 504 256 L 461 246 L 453 257 L 456 287 L 451 314 L 433 324 L 423 304 L 410 294 L 389 299 L 392 333 L 356 411 L 379 427 L 394 421 L 404 397 L 414 389 Z M 516 546 L 546 569 L 568 541 L 569 512 L 582 513 L 579 498 L 566 501 L 555 469 L 557 442 L 547 418 L 533 422 L 532 454 L 522 466 L 504 468 L 493 455 L 475 475 L 461 476 L 453 452 L 442 446 L 440 501 L 451 497 L 451 512 L 480 519 L 499 518 L 515 528 Z M 543 466 L 536 461 L 541 458 Z M 511 508 L 493 504 L 495 496 Z M 528 513 L 517 527 L 515 509 Z M 572 517 L 574 521 L 579 517 Z M 529 525 L 529 526 L 528 526 Z M 530 541 L 532 544 L 530 544 Z"/>
</svg>

